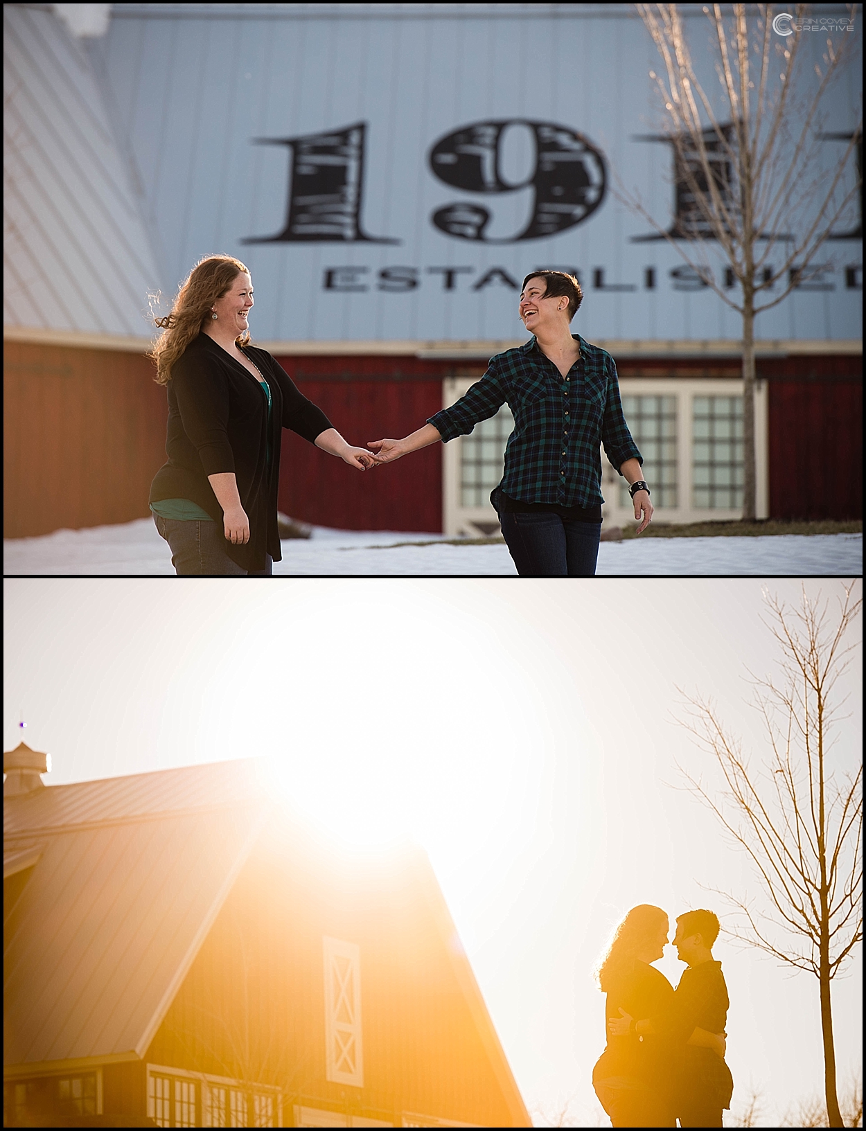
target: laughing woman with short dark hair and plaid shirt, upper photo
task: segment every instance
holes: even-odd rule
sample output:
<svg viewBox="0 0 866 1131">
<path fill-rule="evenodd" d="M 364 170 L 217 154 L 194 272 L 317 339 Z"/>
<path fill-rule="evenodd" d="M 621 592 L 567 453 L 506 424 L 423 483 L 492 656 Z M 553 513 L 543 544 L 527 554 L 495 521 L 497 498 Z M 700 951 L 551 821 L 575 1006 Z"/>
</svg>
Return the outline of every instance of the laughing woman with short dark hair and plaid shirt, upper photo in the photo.
<svg viewBox="0 0 866 1131">
<path fill-rule="evenodd" d="M 491 357 L 481 380 L 417 432 L 368 444 L 378 463 L 389 463 L 437 440 L 466 435 L 507 404 L 514 431 L 490 501 L 522 577 L 594 575 L 605 501 L 601 444 L 629 484 L 637 533 L 652 520 L 650 489 L 623 416 L 614 359 L 569 329 L 582 300 L 573 275 L 528 275 L 520 317 L 532 338 Z"/>
</svg>

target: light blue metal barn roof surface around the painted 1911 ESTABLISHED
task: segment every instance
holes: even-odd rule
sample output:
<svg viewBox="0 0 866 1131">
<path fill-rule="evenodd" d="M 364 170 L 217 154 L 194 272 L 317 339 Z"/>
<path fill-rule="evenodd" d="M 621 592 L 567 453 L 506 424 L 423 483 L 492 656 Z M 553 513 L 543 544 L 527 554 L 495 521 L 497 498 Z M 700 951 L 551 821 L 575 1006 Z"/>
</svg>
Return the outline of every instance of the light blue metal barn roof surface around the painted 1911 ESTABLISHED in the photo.
<svg viewBox="0 0 866 1131">
<path fill-rule="evenodd" d="M 251 326 L 260 339 L 512 338 L 521 333 L 515 292 L 500 276 L 473 285 L 495 267 L 520 282 L 535 267 L 561 266 L 582 274 L 586 301 L 575 325 L 590 339 L 739 337 L 738 316 L 718 296 L 676 286 L 670 271 L 681 262 L 672 248 L 632 242 L 650 228 L 614 196 L 618 176 L 653 215 L 670 214 L 668 147 L 637 139 L 661 124 L 649 78 L 659 60 L 626 6 L 607 15 L 571 5 L 491 5 L 487 15 L 481 6 L 464 6 L 464 15 L 444 5 L 432 6 L 448 9 L 438 12 L 380 6 L 374 15 L 372 6 L 314 6 L 320 14 L 310 6 L 247 7 L 255 11 L 119 6 L 108 36 L 89 49 L 145 189 L 166 287 L 200 256 L 229 252 L 254 273 Z M 693 24 L 697 44 L 705 31 Z M 698 58 L 708 72 L 709 63 Z M 839 84 L 835 121 L 854 122 L 856 87 Z M 438 208 L 472 202 L 494 214 L 492 235 L 507 241 L 522 227 L 531 188 L 460 191 L 428 163 L 445 135 L 503 119 L 566 126 L 603 153 L 608 190 L 591 216 L 554 238 L 522 242 L 473 242 L 434 226 Z M 280 232 L 286 214 L 289 148 L 255 139 L 361 121 L 362 225 L 400 242 L 245 243 Z M 842 258 L 859 256 L 859 244 L 838 248 Z M 445 290 L 441 274 L 429 271 L 445 266 L 471 270 Z M 363 269 L 359 290 L 325 288 L 326 270 L 337 267 Z M 379 273 L 397 267 L 417 271 L 414 288 L 383 288 Z M 645 286 L 648 267 L 655 290 Z M 593 285 L 598 270 L 605 288 Z M 833 292 L 796 294 L 762 314 L 761 337 L 858 336 L 858 293 L 834 270 Z"/>
</svg>

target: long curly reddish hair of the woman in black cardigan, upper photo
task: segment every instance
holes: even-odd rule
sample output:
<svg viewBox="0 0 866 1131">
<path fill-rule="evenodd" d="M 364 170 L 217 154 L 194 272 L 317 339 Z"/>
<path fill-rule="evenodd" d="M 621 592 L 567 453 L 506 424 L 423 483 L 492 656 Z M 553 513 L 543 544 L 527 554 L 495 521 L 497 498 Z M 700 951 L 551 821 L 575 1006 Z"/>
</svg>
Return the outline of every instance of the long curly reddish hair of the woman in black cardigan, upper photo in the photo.
<svg viewBox="0 0 866 1131">
<path fill-rule="evenodd" d="M 232 283 L 242 271 L 249 275 L 240 259 L 232 256 L 206 256 L 181 284 L 171 313 L 164 318 L 154 318 L 154 326 L 162 327 L 162 334 L 147 356 L 156 365 L 154 380 L 157 385 L 169 383 L 172 365 L 207 325 L 214 302 L 229 293 Z M 245 330 L 235 342 L 239 346 L 246 346 L 249 331 Z"/>
</svg>

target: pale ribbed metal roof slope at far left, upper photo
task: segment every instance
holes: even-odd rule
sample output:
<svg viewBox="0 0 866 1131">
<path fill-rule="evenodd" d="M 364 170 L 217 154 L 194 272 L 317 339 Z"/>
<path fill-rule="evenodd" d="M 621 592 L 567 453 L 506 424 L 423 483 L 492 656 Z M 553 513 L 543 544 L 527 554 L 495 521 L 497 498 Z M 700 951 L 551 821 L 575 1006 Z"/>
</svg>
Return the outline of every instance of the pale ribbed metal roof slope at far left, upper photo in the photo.
<svg viewBox="0 0 866 1131">
<path fill-rule="evenodd" d="M 84 48 L 3 5 L 3 326 L 144 338 L 158 271 Z"/>
</svg>

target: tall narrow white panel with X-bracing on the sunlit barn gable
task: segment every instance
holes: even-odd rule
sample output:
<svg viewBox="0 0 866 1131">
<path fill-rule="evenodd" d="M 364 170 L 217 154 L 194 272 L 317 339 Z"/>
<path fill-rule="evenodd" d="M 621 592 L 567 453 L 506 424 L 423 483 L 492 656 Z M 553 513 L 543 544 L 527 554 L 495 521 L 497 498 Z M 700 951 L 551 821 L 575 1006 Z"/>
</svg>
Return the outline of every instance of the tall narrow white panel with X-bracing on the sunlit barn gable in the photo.
<svg viewBox="0 0 866 1131">
<path fill-rule="evenodd" d="M 353 942 L 325 938 L 325 1076 L 363 1087 L 361 952 Z"/>
</svg>

